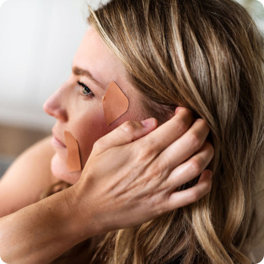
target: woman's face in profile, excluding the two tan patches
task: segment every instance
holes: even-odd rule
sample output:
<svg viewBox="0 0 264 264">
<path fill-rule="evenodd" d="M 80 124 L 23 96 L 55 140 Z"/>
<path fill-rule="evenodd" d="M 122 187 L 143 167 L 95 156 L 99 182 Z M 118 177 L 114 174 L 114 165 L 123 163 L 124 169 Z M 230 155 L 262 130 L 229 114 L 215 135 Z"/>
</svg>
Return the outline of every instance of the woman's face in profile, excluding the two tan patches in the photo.
<svg viewBox="0 0 264 264">
<path fill-rule="evenodd" d="M 84 70 L 90 74 L 84 74 Z M 89 76 L 90 75 L 90 76 Z M 110 82 L 115 82 L 129 99 L 128 111 L 107 126 L 102 98 Z M 142 113 L 140 94 L 128 82 L 128 73 L 90 27 L 78 48 L 69 79 L 45 102 L 44 110 L 57 119 L 52 129 L 55 154 L 51 170 L 55 177 L 74 184 L 81 172 L 70 173 L 66 167 L 67 149 L 64 132 L 78 142 L 84 167 L 94 142 L 126 120 L 147 118 Z"/>
</svg>

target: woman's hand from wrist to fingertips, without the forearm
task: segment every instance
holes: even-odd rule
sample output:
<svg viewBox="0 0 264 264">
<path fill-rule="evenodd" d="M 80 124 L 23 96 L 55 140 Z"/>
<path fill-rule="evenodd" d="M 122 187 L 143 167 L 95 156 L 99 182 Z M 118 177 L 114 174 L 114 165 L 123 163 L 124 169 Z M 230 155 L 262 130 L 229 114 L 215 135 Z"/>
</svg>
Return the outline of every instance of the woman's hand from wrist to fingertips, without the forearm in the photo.
<svg viewBox="0 0 264 264">
<path fill-rule="evenodd" d="M 84 230 L 90 216 L 100 234 L 141 224 L 205 196 L 212 177 L 205 168 L 214 155 L 208 133 L 204 120 L 194 120 L 190 110 L 179 107 L 158 128 L 154 118 L 128 121 L 100 138 L 73 186 Z M 176 191 L 199 175 L 195 186 Z"/>
</svg>

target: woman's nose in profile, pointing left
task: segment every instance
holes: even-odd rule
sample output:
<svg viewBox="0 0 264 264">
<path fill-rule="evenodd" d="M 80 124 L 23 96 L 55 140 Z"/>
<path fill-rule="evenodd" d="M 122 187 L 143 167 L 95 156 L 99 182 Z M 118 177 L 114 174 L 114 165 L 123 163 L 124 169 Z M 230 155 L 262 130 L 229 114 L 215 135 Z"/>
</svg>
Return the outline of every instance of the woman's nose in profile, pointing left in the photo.
<svg viewBox="0 0 264 264">
<path fill-rule="evenodd" d="M 67 110 L 63 104 L 62 94 L 58 89 L 53 95 L 51 95 L 43 105 L 44 111 L 55 117 L 56 119 L 66 122 L 68 120 Z"/>
</svg>

